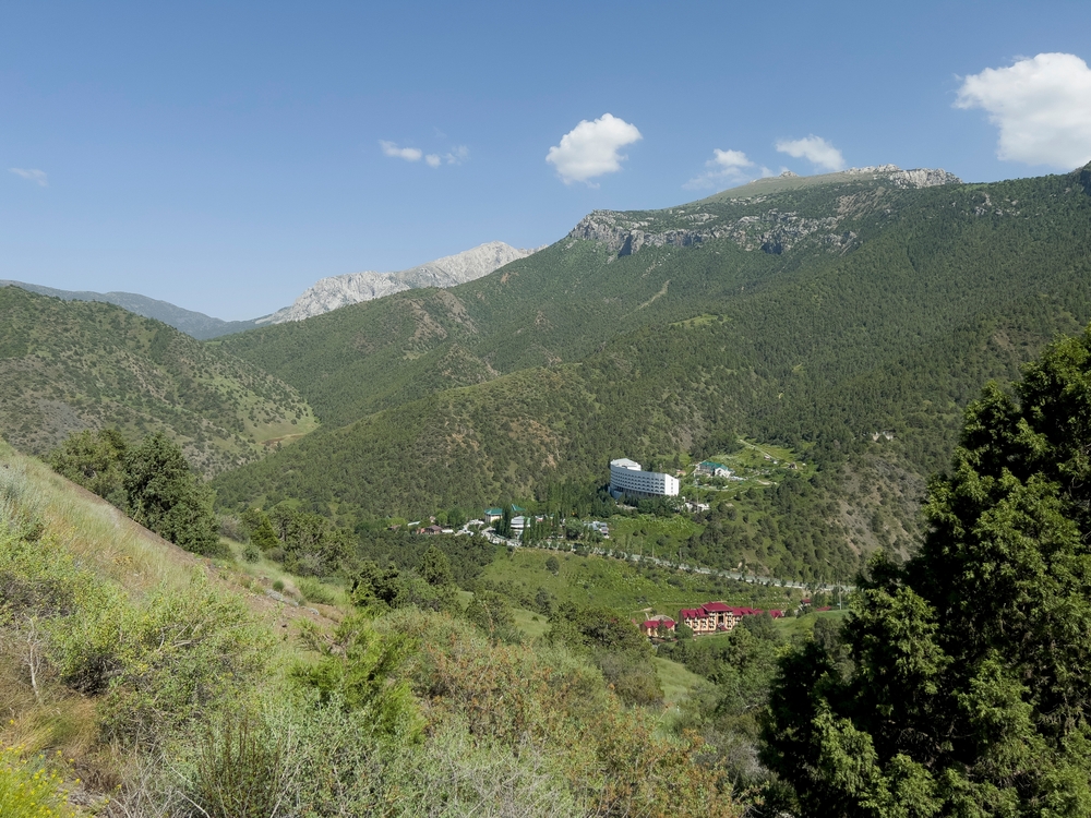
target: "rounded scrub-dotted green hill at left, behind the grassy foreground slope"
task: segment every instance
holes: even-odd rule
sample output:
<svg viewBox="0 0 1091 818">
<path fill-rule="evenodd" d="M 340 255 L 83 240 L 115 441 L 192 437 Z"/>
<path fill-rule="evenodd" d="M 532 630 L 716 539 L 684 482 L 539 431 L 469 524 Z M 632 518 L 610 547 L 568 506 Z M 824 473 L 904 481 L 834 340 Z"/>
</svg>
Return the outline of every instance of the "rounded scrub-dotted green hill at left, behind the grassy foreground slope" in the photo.
<svg viewBox="0 0 1091 818">
<path fill-rule="evenodd" d="M 0 288 L 0 432 L 23 450 L 84 429 L 164 431 L 213 474 L 314 425 L 295 388 L 166 324 Z"/>
</svg>

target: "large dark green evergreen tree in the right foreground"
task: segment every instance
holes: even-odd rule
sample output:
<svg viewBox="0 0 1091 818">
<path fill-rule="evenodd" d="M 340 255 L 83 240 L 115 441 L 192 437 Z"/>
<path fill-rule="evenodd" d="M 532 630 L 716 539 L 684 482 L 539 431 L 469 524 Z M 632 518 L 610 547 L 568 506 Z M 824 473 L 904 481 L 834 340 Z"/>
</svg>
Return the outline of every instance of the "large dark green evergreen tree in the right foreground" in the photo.
<svg viewBox="0 0 1091 818">
<path fill-rule="evenodd" d="M 1091 328 L 966 413 L 930 532 L 788 655 L 765 762 L 801 815 L 1091 815 Z"/>
</svg>

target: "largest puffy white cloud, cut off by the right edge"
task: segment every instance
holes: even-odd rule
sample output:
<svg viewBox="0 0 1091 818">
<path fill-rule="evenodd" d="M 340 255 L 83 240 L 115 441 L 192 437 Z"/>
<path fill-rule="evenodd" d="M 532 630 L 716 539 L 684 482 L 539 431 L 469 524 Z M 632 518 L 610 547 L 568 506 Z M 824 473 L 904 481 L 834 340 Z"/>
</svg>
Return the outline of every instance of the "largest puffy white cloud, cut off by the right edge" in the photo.
<svg viewBox="0 0 1091 818">
<path fill-rule="evenodd" d="M 955 107 L 988 111 L 1000 159 L 1065 170 L 1091 161 L 1091 69 L 1076 55 L 1040 53 L 972 74 Z"/>
</svg>

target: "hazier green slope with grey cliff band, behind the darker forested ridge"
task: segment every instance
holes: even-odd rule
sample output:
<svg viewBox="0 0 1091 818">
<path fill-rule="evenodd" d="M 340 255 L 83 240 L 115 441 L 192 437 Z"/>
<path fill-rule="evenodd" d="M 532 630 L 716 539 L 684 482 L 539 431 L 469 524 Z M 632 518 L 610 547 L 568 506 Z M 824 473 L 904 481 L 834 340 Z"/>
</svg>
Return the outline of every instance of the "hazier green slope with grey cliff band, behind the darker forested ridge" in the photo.
<svg viewBox="0 0 1091 818">
<path fill-rule="evenodd" d="M 619 332 L 748 298 L 854 253 L 937 190 L 906 171 L 658 212 L 596 212 L 561 242 L 447 291 L 415 290 L 226 339 L 331 423 L 437 388 L 579 360 Z M 972 205 L 971 205 L 972 207 Z"/>
</svg>

